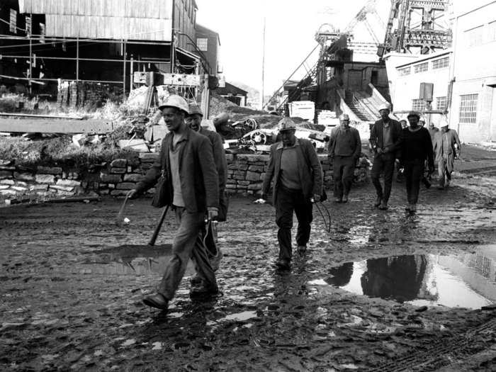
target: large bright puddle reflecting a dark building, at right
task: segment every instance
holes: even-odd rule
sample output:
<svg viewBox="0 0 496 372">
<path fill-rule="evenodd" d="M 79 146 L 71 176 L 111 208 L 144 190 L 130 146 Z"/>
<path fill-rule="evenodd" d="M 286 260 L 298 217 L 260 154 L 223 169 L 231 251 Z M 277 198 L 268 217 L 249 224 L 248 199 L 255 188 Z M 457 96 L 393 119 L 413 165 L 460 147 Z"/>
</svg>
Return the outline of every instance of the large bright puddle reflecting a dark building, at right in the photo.
<svg viewBox="0 0 496 372">
<path fill-rule="evenodd" d="M 412 305 L 478 309 L 496 303 L 496 245 L 475 254 L 395 256 L 349 262 L 324 282 L 368 297 Z M 322 285 L 322 279 L 311 281 Z"/>
</svg>

